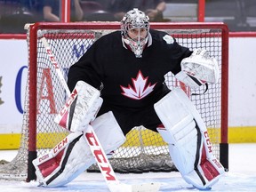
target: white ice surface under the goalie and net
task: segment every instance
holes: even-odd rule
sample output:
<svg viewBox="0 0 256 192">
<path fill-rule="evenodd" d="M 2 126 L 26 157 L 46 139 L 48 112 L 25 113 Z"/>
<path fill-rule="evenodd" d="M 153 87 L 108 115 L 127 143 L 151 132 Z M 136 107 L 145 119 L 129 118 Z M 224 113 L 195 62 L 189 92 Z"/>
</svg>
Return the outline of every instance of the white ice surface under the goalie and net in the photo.
<svg viewBox="0 0 256 192">
<path fill-rule="evenodd" d="M 0 159 L 12 160 L 17 151 L 0 150 Z M 212 187 L 211 191 L 256 192 L 256 144 L 229 144 L 229 171 Z M 159 191 L 198 191 L 188 185 L 179 172 L 149 172 L 143 174 L 119 174 L 117 178 L 126 184 L 158 182 Z M 37 182 L 0 180 L 3 192 L 105 192 L 108 191 L 100 173 L 84 172 L 76 180 L 61 188 L 37 187 Z M 122 192 L 122 190 L 120 190 Z"/>
</svg>

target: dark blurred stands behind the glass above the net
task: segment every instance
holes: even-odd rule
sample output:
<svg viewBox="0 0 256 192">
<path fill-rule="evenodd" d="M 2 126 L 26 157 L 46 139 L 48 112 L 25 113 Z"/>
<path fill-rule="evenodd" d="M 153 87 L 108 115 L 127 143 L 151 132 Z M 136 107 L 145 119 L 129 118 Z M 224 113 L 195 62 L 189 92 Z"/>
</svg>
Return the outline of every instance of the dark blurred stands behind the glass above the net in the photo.
<svg viewBox="0 0 256 192">
<path fill-rule="evenodd" d="M 153 22 L 223 21 L 231 32 L 256 30 L 255 0 L 0 0 L 0 33 L 26 33 L 24 24 L 36 21 L 119 21 L 133 7 Z"/>
</svg>

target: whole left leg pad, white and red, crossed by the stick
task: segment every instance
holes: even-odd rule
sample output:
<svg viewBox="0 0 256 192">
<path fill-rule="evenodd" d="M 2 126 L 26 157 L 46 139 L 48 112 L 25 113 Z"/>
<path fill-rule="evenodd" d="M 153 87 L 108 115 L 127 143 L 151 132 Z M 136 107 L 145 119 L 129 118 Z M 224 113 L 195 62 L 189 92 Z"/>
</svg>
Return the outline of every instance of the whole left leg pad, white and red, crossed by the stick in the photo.
<svg viewBox="0 0 256 192">
<path fill-rule="evenodd" d="M 112 112 L 97 117 L 92 127 L 106 153 L 124 143 L 125 137 Z M 84 133 L 72 132 L 52 150 L 37 157 L 33 164 L 36 176 L 44 187 L 60 187 L 74 180 L 95 163 Z"/>
</svg>

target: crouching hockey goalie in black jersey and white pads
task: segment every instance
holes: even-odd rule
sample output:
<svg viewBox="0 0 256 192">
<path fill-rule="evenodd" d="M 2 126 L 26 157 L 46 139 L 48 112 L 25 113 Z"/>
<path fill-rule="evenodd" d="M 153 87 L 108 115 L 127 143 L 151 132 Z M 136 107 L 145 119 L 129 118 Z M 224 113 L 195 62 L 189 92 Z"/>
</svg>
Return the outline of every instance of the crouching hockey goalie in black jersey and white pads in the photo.
<svg viewBox="0 0 256 192">
<path fill-rule="evenodd" d="M 191 51 L 168 33 L 149 28 L 148 16 L 138 9 L 127 12 L 121 30 L 101 36 L 69 68 L 73 92 L 55 120 L 70 134 L 33 161 L 39 182 L 62 186 L 104 161 L 86 142 L 88 127 L 108 153 L 124 143 L 134 126 L 143 125 L 168 143 L 184 180 L 196 188 L 211 188 L 224 168 L 212 154 L 204 121 L 185 92 L 164 84 L 170 71 L 194 90 L 215 84 L 220 72 L 210 53 Z"/>
</svg>

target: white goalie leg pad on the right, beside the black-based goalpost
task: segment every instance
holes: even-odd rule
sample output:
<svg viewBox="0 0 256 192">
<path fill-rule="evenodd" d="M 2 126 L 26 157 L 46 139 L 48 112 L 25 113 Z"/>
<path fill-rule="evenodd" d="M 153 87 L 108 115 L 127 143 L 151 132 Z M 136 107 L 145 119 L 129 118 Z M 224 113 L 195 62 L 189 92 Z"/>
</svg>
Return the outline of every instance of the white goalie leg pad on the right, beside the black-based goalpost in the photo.
<svg viewBox="0 0 256 192">
<path fill-rule="evenodd" d="M 224 173 L 212 154 L 212 144 L 203 119 L 180 88 L 155 104 L 165 128 L 158 128 L 169 144 L 173 163 L 184 180 L 196 188 L 210 188 Z"/>
</svg>

